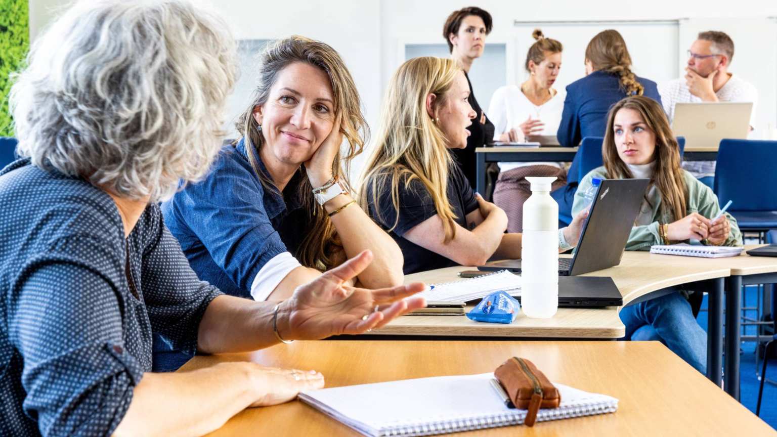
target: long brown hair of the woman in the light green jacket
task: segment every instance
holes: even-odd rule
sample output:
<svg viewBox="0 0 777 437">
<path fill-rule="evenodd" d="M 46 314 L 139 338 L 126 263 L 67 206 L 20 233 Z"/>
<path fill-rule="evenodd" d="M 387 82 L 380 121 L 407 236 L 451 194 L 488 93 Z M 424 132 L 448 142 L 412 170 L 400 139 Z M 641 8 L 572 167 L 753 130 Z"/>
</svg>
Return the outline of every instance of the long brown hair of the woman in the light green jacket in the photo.
<svg viewBox="0 0 777 437">
<path fill-rule="evenodd" d="M 615 114 L 619 110 L 636 110 L 650 131 L 656 135 L 656 149 L 653 152 L 655 165 L 650 184 L 655 185 L 661 194 L 660 212 L 664 218 L 677 221 L 686 215 L 688 190 L 685 187 L 680 167 L 680 147 L 669 127 L 669 121 L 660 103 L 645 96 L 631 96 L 615 103 L 607 115 L 605 142 L 601 146 L 601 156 L 605 160 L 607 177 L 610 179 L 632 179 L 634 175 L 629 166 L 618 156 L 615 146 Z"/>
</svg>

